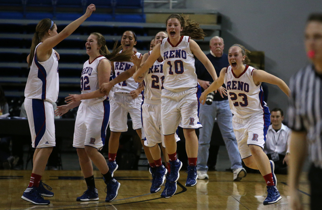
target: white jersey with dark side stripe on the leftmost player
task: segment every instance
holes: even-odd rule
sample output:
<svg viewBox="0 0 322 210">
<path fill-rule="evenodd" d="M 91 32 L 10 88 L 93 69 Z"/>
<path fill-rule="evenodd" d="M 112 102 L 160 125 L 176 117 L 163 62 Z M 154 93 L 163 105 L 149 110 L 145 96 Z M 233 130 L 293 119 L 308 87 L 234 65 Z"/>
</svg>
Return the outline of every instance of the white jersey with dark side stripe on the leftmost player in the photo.
<svg viewBox="0 0 322 210">
<path fill-rule="evenodd" d="M 59 92 L 58 59 L 52 49 L 50 57 L 43 62 L 37 60 L 37 48 L 30 66 L 25 88 L 25 97 L 56 102 Z"/>
</svg>

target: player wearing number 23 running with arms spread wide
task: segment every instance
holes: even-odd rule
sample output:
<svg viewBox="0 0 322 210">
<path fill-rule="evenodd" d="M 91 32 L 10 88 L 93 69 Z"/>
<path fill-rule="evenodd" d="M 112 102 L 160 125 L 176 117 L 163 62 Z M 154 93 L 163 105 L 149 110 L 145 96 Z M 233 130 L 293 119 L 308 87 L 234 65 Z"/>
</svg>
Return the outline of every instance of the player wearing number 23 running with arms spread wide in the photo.
<svg viewBox="0 0 322 210">
<path fill-rule="evenodd" d="M 200 97 L 205 103 L 207 94 L 223 83 L 229 95 L 230 110 L 233 113 L 232 126 L 236 135 L 239 153 L 245 165 L 260 170 L 267 183 L 268 195 L 264 205 L 272 204 L 282 197 L 276 188 L 274 162 L 263 152 L 266 133 L 270 125 L 270 112 L 264 102 L 261 83 L 277 85 L 287 96 L 290 90 L 281 79 L 247 65 L 250 60 L 244 46 L 234 44 L 229 48 L 229 66 L 222 68 L 219 78 Z"/>
</svg>

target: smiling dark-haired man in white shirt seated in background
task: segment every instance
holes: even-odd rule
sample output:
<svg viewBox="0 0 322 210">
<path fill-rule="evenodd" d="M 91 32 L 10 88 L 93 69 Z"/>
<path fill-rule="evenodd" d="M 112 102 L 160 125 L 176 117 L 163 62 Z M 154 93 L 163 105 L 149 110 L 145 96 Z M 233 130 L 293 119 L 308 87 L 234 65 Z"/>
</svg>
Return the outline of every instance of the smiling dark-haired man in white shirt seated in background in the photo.
<svg viewBox="0 0 322 210">
<path fill-rule="evenodd" d="M 271 110 L 271 122 L 268 127 L 264 152 L 268 159 L 275 163 L 276 174 L 287 174 L 289 161 L 289 137 L 291 129 L 282 123 L 283 110 L 274 108 Z"/>
</svg>

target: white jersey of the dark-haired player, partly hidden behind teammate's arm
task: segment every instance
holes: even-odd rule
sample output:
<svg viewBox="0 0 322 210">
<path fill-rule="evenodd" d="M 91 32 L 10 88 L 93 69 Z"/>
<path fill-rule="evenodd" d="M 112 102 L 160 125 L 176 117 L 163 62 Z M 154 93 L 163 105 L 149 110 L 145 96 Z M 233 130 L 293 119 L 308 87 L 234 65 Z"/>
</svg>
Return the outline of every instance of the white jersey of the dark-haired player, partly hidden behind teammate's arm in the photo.
<svg viewBox="0 0 322 210">
<path fill-rule="evenodd" d="M 120 51 L 120 53 L 122 50 Z M 141 53 L 135 52 L 136 56 L 141 57 Z M 115 76 L 119 76 L 121 73 L 130 69 L 134 64 L 132 62 L 114 62 L 114 72 Z M 139 87 L 139 84 L 136 83 L 133 77 L 118 83 L 114 86 L 114 93 L 130 93 L 131 91 L 136 90 Z"/>
</svg>

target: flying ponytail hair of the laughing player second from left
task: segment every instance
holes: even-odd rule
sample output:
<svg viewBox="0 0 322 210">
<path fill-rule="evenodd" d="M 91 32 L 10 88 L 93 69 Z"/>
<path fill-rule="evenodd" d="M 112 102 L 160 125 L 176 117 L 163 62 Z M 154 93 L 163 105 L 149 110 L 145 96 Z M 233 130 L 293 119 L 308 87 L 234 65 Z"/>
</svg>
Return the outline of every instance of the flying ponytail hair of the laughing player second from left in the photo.
<svg viewBox="0 0 322 210">
<path fill-rule="evenodd" d="M 97 44 L 101 46 L 100 54 L 104 55 L 111 62 L 122 62 L 129 61 L 133 52 L 130 50 L 126 50 L 122 53 L 119 53 L 122 50 L 122 46 L 117 47 L 117 41 L 114 44 L 112 52 L 106 46 L 106 40 L 104 36 L 98 32 L 91 33 L 97 37 Z"/>
</svg>

